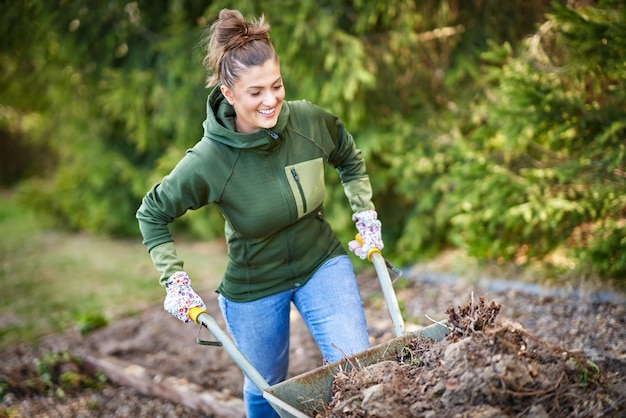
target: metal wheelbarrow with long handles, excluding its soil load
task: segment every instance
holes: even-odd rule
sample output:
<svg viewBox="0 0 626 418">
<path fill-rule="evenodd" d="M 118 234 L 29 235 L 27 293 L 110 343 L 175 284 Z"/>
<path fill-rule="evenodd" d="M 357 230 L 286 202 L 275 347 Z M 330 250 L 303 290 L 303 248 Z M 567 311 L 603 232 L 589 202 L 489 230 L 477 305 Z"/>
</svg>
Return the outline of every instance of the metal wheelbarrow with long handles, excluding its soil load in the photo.
<svg viewBox="0 0 626 418">
<path fill-rule="evenodd" d="M 273 386 L 267 383 L 243 353 L 239 351 L 232 339 L 211 315 L 205 311 L 192 308 L 190 310 L 191 319 L 206 327 L 215 337 L 215 341 L 205 341 L 198 338 L 198 343 L 222 346 L 281 417 L 308 418 L 315 416 L 323 411 L 324 405 L 330 403 L 333 380 L 340 370 L 350 371 L 354 365 L 367 367 L 371 364 L 395 359 L 396 354 L 402 352 L 412 338 L 424 337 L 442 340 L 449 332 L 446 325 L 435 323 L 419 331 L 405 333 L 404 321 L 393 290 L 393 283 L 387 270 L 392 266 L 384 260 L 380 252 L 374 252 L 368 258 L 370 258 L 376 269 L 383 296 L 391 315 L 396 338 Z"/>
</svg>

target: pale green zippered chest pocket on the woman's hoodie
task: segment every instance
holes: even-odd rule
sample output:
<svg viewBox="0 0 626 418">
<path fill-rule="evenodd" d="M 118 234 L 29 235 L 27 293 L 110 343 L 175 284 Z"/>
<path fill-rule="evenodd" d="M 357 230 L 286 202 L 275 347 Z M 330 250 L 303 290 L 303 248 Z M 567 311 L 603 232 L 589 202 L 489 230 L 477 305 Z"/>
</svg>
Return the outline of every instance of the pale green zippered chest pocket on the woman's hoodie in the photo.
<svg viewBox="0 0 626 418">
<path fill-rule="evenodd" d="M 285 175 L 296 200 L 298 219 L 322 204 L 326 194 L 323 158 L 288 165 Z"/>
</svg>

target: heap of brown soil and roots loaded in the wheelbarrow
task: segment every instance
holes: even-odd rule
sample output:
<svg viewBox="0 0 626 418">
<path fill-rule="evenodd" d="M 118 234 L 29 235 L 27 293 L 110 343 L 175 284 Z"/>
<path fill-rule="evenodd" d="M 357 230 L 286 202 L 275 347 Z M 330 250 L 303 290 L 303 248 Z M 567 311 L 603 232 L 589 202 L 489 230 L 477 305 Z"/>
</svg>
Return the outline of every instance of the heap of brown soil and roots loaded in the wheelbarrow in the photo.
<svg viewBox="0 0 626 418">
<path fill-rule="evenodd" d="M 411 339 L 397 360 L 340 371 L 318 417 L 590 417 L 626 413 L 624 388 L 580 352 L 534 337 L 501 305 L 449 308 L 443 341 Z M 623 369 L 620 372 L 623 373 Z"/>
</svg>

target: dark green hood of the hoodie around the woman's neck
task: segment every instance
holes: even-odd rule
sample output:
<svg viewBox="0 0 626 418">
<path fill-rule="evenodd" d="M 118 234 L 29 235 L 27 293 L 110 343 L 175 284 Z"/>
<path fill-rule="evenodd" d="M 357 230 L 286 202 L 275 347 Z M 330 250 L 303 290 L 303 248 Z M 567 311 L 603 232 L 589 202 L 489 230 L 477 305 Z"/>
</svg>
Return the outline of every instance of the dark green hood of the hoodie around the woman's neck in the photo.
<svg viewBox="0 0 626 418">
<path fill-rule="evenodd" d="M 204 138 L 233 148 L 272 150 L 280 142 L 289 119 L 289 104 L 283 101 L 278 121 L 272 129 L 261 129 L 250 134 L 239 133 L 235 130 L 235 109 L 222 95 L 219 85 L 209 93 L 206 109 L 207 117 L 202 123 Z"/>
</svg>

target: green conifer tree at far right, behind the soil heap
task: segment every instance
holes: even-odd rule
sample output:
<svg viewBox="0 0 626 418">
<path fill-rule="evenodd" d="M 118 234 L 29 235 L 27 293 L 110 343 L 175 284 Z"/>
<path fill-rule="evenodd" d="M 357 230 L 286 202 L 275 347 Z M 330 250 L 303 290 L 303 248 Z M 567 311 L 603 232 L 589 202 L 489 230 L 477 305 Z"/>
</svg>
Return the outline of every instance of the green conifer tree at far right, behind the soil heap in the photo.
<svg viewBox="0 0 626 418">
<path fill-rule="evenodd" d="M 471 254 L 524 262 L 565 248 L 588 273 L 626 277 L 626 10 L 606 4 L 555 5 L 488 71 L 466 158 L 442 179 L 462 190 L 444 201 Z"/>
</svg>

